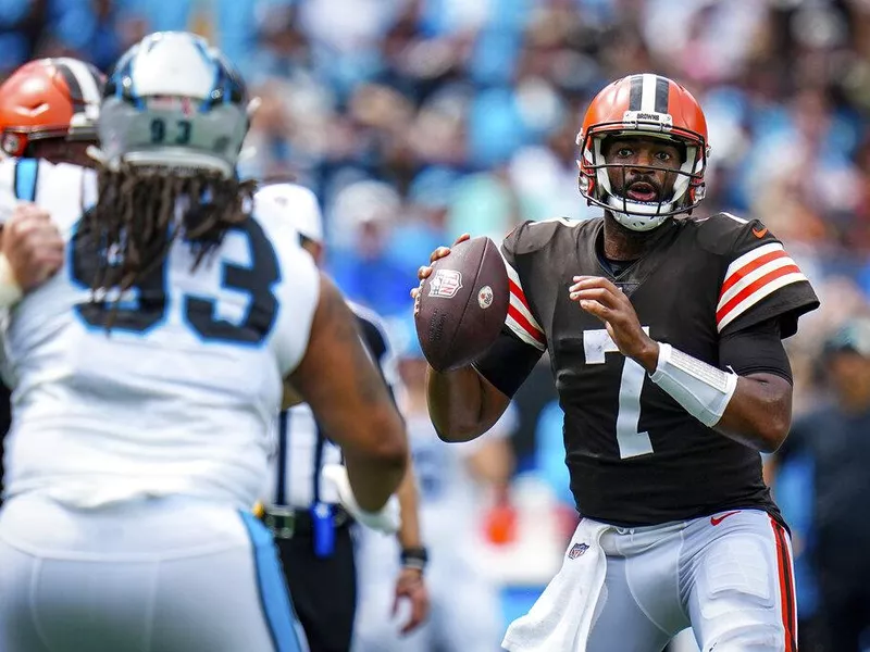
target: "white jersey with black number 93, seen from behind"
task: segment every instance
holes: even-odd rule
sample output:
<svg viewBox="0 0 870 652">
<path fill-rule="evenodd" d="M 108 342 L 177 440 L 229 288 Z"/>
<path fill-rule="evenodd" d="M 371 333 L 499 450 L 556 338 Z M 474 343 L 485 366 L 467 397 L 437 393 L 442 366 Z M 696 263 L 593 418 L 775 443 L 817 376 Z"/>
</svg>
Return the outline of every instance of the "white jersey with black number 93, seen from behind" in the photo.
<svg viewBox="0 0 870 652">
<path fill-rule="evenodd" d="M 79 233 L 96 175 L 44 162 L 37 173 L 35 199 L 66 262 L 2 327 L 13 384 L 5 496 L 92 506 L 185 494 L 250 507 L 319 301 L 298 237 L 254 209 L 198 266 L 176 239 L 133 288 L 96 301 L 97 265 L 121 255 Z"/>
</svg>

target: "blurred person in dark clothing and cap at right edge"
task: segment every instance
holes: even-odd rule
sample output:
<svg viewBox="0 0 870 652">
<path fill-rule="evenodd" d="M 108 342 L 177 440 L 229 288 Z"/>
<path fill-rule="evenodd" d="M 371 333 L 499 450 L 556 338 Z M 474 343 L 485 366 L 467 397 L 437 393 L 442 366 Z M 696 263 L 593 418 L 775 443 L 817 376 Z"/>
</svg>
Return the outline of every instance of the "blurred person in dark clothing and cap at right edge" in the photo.
<svg viewBox="0 0 870 652">
<path fill-rule="evenodd" d="M 776 460 L 785 465 L 801 455 L 812 468 L 812 524 L 801 552 L 819 582 L 821 649 L 860 652 L 870 628 L 870 526 L 856 518 L 870 502 L 870 317 L 840 328 L 821 364 L 831 401 L 794 424 Z"/>
</svg>

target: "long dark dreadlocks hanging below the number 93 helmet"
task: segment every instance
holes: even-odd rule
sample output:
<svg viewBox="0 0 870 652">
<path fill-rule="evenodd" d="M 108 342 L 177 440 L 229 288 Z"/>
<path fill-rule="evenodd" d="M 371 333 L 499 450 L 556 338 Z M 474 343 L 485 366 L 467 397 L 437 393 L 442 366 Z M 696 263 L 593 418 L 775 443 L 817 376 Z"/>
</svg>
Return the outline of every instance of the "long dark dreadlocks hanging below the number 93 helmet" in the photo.
<svg viewBox="0 0 870 652">
<path fill-rule="evenodd" d="M 79 236 L 98 253 L 91 301 L 116 292 L 111 329 L 124 292 L 158 268 L 176 238 L 196 252 L 192 269 L 219 247 L 226 231 L 247 220 L 256 181 L 206 170 L 99 164 L 98 200 L 85 213 Z"/>
</svg>

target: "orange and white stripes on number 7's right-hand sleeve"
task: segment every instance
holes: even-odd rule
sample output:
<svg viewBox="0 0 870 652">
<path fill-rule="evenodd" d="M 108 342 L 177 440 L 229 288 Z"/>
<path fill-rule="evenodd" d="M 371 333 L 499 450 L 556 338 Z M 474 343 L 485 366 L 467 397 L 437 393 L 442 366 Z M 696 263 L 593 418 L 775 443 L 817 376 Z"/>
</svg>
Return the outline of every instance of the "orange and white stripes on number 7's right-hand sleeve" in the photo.
<svg viewBox="0 0 870 652">
<path fill-rule="evenodd" d="M 744 253 L 728 266 L 719 304 L 716 327 L 719 333 L 776 290 L 807 280 L 780 242 L 770 242 Z"/>
</svg>

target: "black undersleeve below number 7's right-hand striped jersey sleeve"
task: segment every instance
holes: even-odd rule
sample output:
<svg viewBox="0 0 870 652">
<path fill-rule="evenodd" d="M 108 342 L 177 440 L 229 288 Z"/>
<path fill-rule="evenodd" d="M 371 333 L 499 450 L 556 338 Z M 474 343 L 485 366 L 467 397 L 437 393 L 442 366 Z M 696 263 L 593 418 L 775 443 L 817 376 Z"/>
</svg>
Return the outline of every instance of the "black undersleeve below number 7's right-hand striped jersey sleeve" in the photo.
<svg viewBox="0 0 870 652">
<path fill-rule="evenodd" d="M 741 376 L 767 373 L 792 383 L 792 365 L 780 333 L 780 319 L 774 317 L 728 334 L 719 342 L 720 365 Z"/>
</svg>

